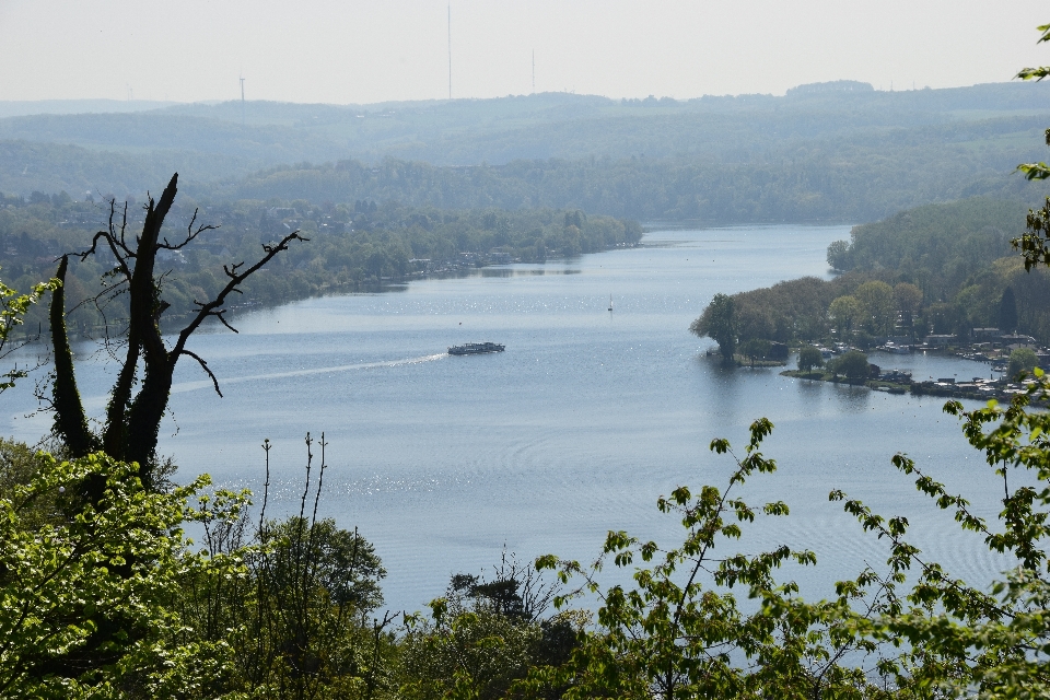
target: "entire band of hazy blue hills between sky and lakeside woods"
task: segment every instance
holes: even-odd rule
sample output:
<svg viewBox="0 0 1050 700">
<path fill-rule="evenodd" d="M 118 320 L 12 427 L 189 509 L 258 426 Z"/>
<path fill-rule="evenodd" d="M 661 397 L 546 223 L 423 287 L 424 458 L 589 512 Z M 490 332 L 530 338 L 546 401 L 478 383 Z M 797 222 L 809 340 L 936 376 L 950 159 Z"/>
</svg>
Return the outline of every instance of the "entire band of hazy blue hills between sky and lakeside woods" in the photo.
<svg viewBox="0 0 1050 700">
<path fill-rule="evenodd" d="M 141 197 L 177 170 L 198 198 L 575 206 L 732 223 L 1030 198 L 1041 188 L 1007 175 L 1045 158 L 1050 85 L 884 92 L 839 81 L 690 101 L 542 93 L 124 112 L 114 103 L 108 113 L 90 113 L 104 101 L 84 102 L 0 119 L 0 191 Z M 0 103 L 0 114 L 26 108 Z"/>
</svg>

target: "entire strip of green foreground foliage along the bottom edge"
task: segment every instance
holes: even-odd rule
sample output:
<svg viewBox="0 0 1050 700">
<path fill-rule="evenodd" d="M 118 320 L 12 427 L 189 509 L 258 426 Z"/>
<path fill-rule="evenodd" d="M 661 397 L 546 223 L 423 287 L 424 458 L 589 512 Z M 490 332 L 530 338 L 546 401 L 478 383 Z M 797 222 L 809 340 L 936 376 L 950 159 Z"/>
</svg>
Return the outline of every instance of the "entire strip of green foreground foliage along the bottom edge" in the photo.
<svg viewBox="0 0 1050 700">
<path fill-rule="evenodd" d="M 406 616 L 399 629 L 389 614 L 368 617 L 385 572 L 355 532 L 311 515 L 310 478 L 299 516 L 260 514 L 245 538 L 246 494 L 205 493 L 206 477 L 154 492 L 135 465 L 103 454 L 62 462 L 4 443 L 0 697 L 1048 697 L 1050 415 L 1028 408 L 1048 393 L 1039 376 L 1008 407 L 945 406 L 1002 479 L 995 522 L 894 458 L 960 527 L 1012 559 L 988 590 L 910 545 L 906 517 L 841 491 L 829 498 L 889 557 L 830 598 L 807 602 L 774 576 L 789 562 L 815 564 L 809 550 L 726 553 L 749 523 L 788 515 L 782 502 L 740 494 L 777 469 L 760 451 L 772 430 L 760 419 L 742 456 L 711 443 L 735 460 L 724 488 L 660 499 L 682 524 L 679 545 L 614 532 L 591 565 L 547 556 L 536 571 L 504 561 L 490 581 L 459 574 L 431 603 L 432 619 Z M 323 476 L 324 466 L 318 491 Z M 191 522 L 205 528 L 203 550 L 183 534 Z M 633 570 L 630 585 L 603 587 L 609 560 Z M 560 583 L 544 583 L 542 570 Z M 572 609 L 580 598 L 594 602 L 584 607 L 593 619 Z"/>
</svg>

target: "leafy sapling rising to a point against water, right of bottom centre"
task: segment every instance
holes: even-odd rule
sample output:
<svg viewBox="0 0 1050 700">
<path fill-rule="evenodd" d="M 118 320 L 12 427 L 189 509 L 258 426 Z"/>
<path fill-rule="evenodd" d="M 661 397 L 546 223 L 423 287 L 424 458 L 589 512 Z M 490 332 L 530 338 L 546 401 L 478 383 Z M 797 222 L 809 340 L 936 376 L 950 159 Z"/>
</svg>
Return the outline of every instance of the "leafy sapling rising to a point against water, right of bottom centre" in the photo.
<svg viewBox="0 0 1050 700">
<path fill-rule="evenodd" d="M 713 452 L 736 460 L 724 491 L 705 486 L 693 495 L 679 487 L 658 500 L 662 512 L 681 518 L 681 546 L 662 549 L 610 532 L 590 567 L 552 555 L 537 560 L 537 569 L 557 570 L 563 583 L 581 582 L 557 605 L 597 596 L 598 628 L 567 664 L 537 669 L 518 685 L 521 691 L 535 697 L 545 688 L 567 687 L 567 698 L 639 699 L 879 695 L 864 669 L 842 663 L 848 655 L 874 650 L 841 625 L 856 615 L 851 604 L 859 600 L 871 598 L 863 615 L 876 611 L 878 591 L 866 591 L 871 576 L 842 584 L 835 600 L 809 605 L 797 597 L 795 583 L 778 584 L 773 571 L 788 562 L 815 564 L 814 552 L 783 546 L 752 556 L 716 555 L 725 540 L 742 537 L 743 524 L 788 515 L 783 502 L 755 508 L 733 493 L 752 475 L 775 470 L 775 463 L 759 452 L 771 430 L 766 419 L 752 423 L 743 458 L 733 455 L 725 440 L 711 443 Z M 618 568 L 632 565 L 635 558 L 654 563 L 635 570 L 633 587 L 603 590 L 598 574 L 608 558 Z M 754 611 L 738 607 L 736 586 L 757 602 Z"/>
</svg>

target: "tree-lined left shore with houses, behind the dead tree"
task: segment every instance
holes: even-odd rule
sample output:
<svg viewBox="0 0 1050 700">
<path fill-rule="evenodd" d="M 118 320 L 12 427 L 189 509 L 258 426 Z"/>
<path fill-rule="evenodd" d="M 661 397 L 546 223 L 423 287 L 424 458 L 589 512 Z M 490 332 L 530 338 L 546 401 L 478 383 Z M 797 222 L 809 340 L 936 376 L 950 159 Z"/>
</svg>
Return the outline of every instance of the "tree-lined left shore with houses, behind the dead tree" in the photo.
<svg viewBox="0 0 1050 700">
<path fill-rule="evenodd" d="M 165 224 L 171 241 L 186 234 L 196 205 L 177 202 Z M 116 222 L 122 217 L 122 202 Z M 129 236 L 141 229 L 142 208 L 129 202 Z M 86 249 L 94 231 L 108 225 L 109 207 L 75 202 L 60 192 L 36 192 L 28 199 L 0 199 L 0 268 L 7 283 L 27 290 L 54 275 L 63 253 Z M 625 245 L 634 245 L 642 229 L 634 221 L 586 215 L 579 210 L 495 208 L 438 210 L 355 200 L 318 207 L 305 200 L 220 202 L 200 206 L 197 224 L 219 226 L 202 233 L 176 253 L 162 253 L 170 268 L 163 299 L 168 315 L 189 312 L 225 283 L 224 264 L 254 260 L 261 244 L 300 231 L 308 243 L 294 245 L 244 284 L 241 304 L 279 304 L 336 291 L 376 289 L 384 281 L 428 272 L 450 272 L 487 262 L 544 261 Z M 67 280 L 73 303 L 93 299 L 101 276 L 113 262 L 102 252 L 74 259 Z M 110 310 L 112 312 L 113 310 Z M 44 322 L 37 307 L 26 327 Z M 95 304 L 85 301 L 69 315 L 74 331 L 89 332 L 102 323 Z"/>
</svg>

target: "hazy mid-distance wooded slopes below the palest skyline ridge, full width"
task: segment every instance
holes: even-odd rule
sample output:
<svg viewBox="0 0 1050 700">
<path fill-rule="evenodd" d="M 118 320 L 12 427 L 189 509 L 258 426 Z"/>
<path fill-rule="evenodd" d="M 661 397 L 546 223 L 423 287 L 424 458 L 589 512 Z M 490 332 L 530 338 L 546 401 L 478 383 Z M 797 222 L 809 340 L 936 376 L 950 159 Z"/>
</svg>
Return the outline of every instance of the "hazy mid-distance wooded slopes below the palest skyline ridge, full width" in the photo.
<svg viewBox="0 0 1050 700">
<path fill-rule="evenodd" d="M 660 132 L 657 126 L 645 128 Z M 720 141 L 718 131 L 709 135 L 698 127 L 674 137 L 681 143 L 668 149 L 681 149 L 678 154 L 661 158 L 641 151 L 622 158 L 544 158 L 455 167 L 395 159 L 372 164 L 341 160 L 262 171 L 240 160 L 236 172 L 226 176 L 221 153 L 158 152 L 141 159 L 73 145 L 4 141 L 0 191 L 65 189 L 77 198 L 88 191 L 95 198 L 110 194 L 125 198 L 175 166 L 192 174 L 184 189 L 201 201 L 370 198 L 444 209 L 570 208 L 705 224 L 874 221 L 905 208 L 973 195 L 1031 197 L 1038 186 L 1008 173 L 1018 160 L 1034 158 L 1029 144 L 1038 126 L 1035 118 L 1016 117 L 769 142 Z M 642 127 L 626 125 L 627 131 L 610 133 L 609 140 L 629 141 L 634 137 L 628 132 L 638 128 Z M 715 152 L 698 145 L 708 141 L 719 145 Z"/>
</svg>

